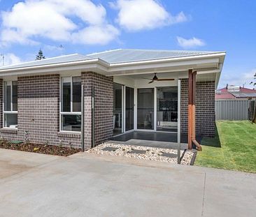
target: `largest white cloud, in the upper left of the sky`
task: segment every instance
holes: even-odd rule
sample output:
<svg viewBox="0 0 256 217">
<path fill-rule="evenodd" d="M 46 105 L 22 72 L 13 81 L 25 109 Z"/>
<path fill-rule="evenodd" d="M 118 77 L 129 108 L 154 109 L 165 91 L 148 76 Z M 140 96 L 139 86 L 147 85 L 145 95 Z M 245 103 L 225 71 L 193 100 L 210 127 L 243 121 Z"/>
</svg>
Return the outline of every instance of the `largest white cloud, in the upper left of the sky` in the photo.
<svg viewBox="0 0 256 217">
<path fill-rule="evenodd" d="M 73 35 L 83 31 L 90 34 L 90 37 L 98 38 L 99 29 L 108 32 L 106 43 L 118 36 L 118 29 L 106 20 L 104 6 L 89 0 L 26 0 L 16 3 L 8 12 L 2 11 L 1 17 L 2 43 L 33 44 L 38 37 L 74 41 Z M 75 19 L 76 22 L 80 20 L 79 25 Z M 90 44 L 90 41 L 93 42 L 86 38 L 76 38 L 78 43 Z"/>
</svg>

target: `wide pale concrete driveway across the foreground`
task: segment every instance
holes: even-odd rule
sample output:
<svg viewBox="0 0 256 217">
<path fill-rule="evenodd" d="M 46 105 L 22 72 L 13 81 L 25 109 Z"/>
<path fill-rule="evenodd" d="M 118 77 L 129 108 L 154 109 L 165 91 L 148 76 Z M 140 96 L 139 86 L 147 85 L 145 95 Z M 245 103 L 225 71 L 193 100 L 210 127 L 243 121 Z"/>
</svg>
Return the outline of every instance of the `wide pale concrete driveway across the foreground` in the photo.
<svg viewBox="0 0 256 217">
<path fill-rule="evenodd" d="M 0 216 L 256 216 L 256 174 L 0 149 Z"/>
</svg>

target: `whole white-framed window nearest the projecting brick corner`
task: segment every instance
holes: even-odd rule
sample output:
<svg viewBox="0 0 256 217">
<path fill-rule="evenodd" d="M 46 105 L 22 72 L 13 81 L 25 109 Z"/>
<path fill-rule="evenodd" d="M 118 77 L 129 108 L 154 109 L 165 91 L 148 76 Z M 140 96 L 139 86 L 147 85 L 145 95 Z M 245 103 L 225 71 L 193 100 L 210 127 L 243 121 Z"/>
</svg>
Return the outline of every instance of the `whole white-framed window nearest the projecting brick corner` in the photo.
<svg viewBox="0 0 256 217">
<path fill-rule="evenodd" d="M 81 77 L 62 77 L 62 131 L 81 131 Z"/>
</svg>

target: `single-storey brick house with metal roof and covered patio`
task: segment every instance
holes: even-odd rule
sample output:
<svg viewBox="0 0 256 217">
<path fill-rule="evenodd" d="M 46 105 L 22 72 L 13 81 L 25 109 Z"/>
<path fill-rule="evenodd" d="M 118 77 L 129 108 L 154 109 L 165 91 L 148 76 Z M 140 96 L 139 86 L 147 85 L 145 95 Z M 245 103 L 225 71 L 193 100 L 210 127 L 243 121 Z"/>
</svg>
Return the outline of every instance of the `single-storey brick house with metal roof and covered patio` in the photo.
<svg viewBox="0 0 256 217">
<path fill-rule="evenodd" d="M 90 148 L 131 130 L 180 129 L 191 148 L 193 130 L 215 135 L 224 59 L 225 52 L 119 49 L 1 67 L 1 137 L 73 147 L 84 138 Z"/>
</svg>

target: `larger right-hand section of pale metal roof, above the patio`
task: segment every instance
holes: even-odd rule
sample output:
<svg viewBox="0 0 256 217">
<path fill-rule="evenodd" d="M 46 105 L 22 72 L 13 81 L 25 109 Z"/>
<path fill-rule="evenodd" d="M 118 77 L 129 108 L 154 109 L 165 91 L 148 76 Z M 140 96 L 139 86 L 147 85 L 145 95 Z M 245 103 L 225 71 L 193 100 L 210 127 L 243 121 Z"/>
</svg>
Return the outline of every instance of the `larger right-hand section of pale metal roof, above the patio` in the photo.
<svg viewBox="0 0 256 217">
<path fill-rule="evenodd" d="M 209 51 L 185 51 L 185 50 L 134 50 L 118 49 L 94 54 L 87 54 L 87 57 L 100 58 L 108 63 L 122 63 L 129 61 L 143 61 L 152 59 L 166 59 L 176 57 L 198 56 L 218 52 Z"/>
</svg>

